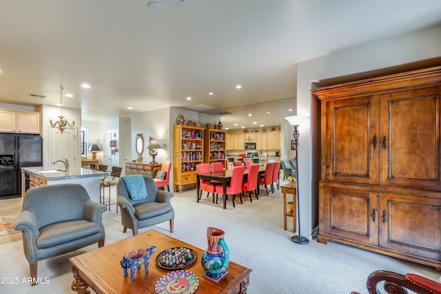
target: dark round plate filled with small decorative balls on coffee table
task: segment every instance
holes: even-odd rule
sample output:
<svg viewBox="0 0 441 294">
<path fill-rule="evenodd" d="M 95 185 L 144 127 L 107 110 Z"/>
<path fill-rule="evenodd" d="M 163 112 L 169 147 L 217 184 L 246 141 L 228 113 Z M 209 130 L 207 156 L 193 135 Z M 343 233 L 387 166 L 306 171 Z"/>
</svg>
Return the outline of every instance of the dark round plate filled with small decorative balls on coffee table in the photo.
<svg viewBox="0 0 441 294">
<path fill-rule="evenodd" d="M 174 247 L 164 250 L 156 256 L 156 265 L 161 269 L 185 269 L 196 262 L 198 255 L 193 249 Z"/>
</svg>

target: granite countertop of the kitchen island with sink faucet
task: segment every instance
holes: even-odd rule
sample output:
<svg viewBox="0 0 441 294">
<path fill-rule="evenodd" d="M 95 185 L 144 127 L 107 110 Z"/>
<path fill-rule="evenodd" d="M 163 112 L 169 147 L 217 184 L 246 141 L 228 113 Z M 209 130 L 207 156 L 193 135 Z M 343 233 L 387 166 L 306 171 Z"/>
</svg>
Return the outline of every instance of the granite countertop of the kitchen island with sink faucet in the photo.
<svg viewBox="0 0 441 294">
<path fill-rule="evenodd" d="M 71 167 L 69 171 L 57 171 L 45 173 L 44 171 L 56 170 L 54 167 L 22 167 L 21 171 L 28 172 L 43 180 L 71 180 L 76 178 L 93 178 L 107 176 L 107 171 L 95 171 L 93 169 L 84 169 L 82 167 Z M 43 172 L 39 172 L 43 171 Z"/>
</svg>

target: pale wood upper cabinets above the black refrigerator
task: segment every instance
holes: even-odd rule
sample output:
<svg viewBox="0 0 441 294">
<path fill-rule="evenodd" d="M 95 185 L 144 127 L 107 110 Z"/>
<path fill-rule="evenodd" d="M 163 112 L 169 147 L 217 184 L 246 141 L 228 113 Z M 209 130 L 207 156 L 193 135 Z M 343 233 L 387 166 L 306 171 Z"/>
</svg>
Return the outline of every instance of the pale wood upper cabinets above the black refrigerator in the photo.
<svg viewBox="0 0 441 294">
<path fill-rule="evenodd" d="M 0 109 L 0 132 L 40 134 L 40 117 L 38 112 L 16 112 Z"/>
</svg>

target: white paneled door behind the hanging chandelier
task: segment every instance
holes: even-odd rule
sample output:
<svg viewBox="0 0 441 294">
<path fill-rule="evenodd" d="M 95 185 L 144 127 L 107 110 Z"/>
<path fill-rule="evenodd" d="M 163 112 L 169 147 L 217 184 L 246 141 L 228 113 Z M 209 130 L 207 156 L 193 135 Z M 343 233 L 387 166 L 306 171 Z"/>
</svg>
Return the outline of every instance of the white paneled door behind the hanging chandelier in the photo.
<svg viewBox="0 0 441 294">
<path fill-rule="evenodd" d="M 79 147 L 79 135 L 78 128 L 68 128 L 64 130 L 63 133 L 59 131 L 56 127 L 50 128 L 50 138 L 49 138 L 49 155 L 50 155 L 50 165 L 56 160 L 61 160 L 68 158 L 69 167 L 76 167 L 78 147 Z M 64 169 L 64 165 L 61 162 L 57 162 L 54 167 L 59 169 Z M 81 163 L 80 163 L 81 166 Z"/>
</svg>

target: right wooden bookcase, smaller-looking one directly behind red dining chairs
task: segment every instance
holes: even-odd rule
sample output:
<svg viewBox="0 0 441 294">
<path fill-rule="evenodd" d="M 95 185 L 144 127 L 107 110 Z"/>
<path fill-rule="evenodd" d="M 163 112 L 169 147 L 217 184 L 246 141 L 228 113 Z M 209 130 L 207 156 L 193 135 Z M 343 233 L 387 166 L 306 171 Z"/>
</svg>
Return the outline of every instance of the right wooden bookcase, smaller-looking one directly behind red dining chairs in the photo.
<svg viewBox="0 0 441 294">
<path fill-rule="evenodd" d="M 205 129 L 204 133 L 204 162 L 222 162 L 225 169 L 227 167 L 226 132 L 221 129 Z"/>
</svg>

